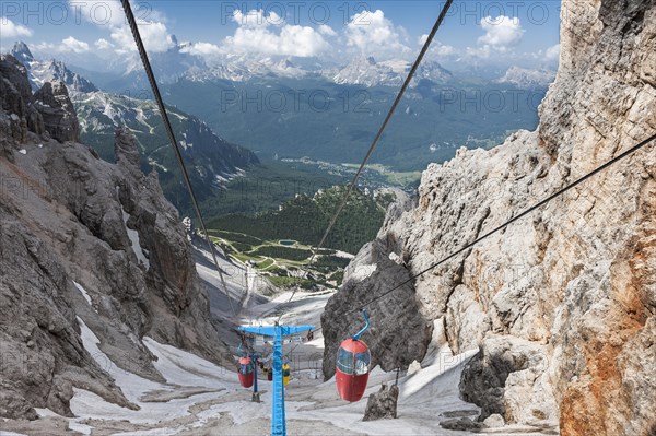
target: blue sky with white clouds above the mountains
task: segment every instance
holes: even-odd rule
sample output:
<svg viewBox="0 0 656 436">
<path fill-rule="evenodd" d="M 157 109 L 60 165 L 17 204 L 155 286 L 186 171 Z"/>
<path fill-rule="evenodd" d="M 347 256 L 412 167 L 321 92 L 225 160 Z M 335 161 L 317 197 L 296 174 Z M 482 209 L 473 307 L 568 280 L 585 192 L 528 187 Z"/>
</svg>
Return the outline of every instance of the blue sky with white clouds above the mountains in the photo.
<svg viewBox="0 0 656 436">
<path fill-rule="evenodd" d="M 147 48 L 171 35 L 209 60 L 231 54 L 337 59 L 412 58 L 443 1 L 131 0 Z M 117 0 L 3 1 L 3 50 L 23 39 L 36 51 L 128 56 L 130 38 Z M 235 15 L 235 11 L 238 15 Z M 254 15 L 249 11 L 258 11 Z M 449 62 L 541 66 L 558 55 L 560 1 L 455 1 L 432 56 Z M 202 43 L 202 44 L 198 44 Z"/>
</svg>

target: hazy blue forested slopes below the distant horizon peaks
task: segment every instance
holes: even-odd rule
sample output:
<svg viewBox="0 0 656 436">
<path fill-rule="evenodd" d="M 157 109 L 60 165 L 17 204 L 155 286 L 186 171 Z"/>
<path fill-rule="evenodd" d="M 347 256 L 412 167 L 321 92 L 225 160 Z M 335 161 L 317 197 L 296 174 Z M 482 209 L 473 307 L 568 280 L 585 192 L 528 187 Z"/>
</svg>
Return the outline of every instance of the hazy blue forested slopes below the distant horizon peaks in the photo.
<svg viewBox="0 0 656 436">
<path fill-rule="evenodd" d="M 308 156 L 330 163 L 362 158 L 397 91 L 323 78 L 183 78 L 166 89 L 171 103 L 203 114 L 224 138 L 260 157 Z M 537 107 L 546 91 L 546 85 L 518 89 L 513 83 L 422 80 L 403 97 L 373 163 L 412 172 L 453 157 L 460 146 L 496 145 L 507 131 L 537 126 Z"/>
</svg>

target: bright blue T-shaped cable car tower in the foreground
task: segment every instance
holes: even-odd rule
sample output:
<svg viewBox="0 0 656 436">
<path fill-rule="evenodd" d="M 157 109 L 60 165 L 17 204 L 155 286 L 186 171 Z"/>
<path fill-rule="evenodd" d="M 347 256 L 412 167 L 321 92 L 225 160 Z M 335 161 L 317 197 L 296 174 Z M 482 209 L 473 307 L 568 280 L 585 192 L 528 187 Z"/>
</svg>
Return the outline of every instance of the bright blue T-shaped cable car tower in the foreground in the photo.
<svg viewBox="0 0 656 436">
<path fill-rule="evenodd" d="M 271 400 L 271 436 L 286 436 L 284 384 L 282 382 L 282 338 L 313 330 L 314 326 L 245 326 L 238 330 L 273 338 L 273 389 Z"/>
</svg>

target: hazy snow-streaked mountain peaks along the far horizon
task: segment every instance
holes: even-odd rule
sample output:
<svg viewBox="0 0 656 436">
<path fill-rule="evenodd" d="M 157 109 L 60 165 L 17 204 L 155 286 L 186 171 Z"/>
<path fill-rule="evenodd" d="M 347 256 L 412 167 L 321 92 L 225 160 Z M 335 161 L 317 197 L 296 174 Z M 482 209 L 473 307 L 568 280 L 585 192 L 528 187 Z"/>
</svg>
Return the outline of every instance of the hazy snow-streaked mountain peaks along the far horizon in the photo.
<svg viewBox="0 0 656 436">
<path fill-rule="evenodd" d="M 356 56 L 343 63 L 335 60 L 298 57 L 265 57 L 253 58 L 249 55 L 221 55 L 209 64 L 206 60 L 192 54 L 194 45 L 178 43 L 173 36 L 174 46 L 164 52 L 150 54 L 151 64 L 161 84 L 172 84 L 178 80 L 208 81 L 226 80 L 246 82 L 261 79 L 323 79 L 335 84 L 398 87 L 410 70 L 410 62 L 403 59 L 377 61 L 372 57 Z M 23 43 L 17 43 L 26 48 Z M 141 89 L 148 83 L 140 79 L 143 75 L 141 61 L 136 56 L 119 57 L 109 62 L 101 63 L 97 56 L 89 54 L 85 57 L 61 55 L 73 70 L 93 78 L 104 91 L 124 92 Z M 43 56 L 42 56 L 43 57 Z M 94 71 L 102 69 L 102 71 Z M 534 75 L 541 85 L 553 81 L 554 72 L 546 70 L 528 70 L 513 67 L 508 70 L 513 79 L 518 72 Z M 547 74 L 544 74 L 547 72 Z M 537 75 L 544 75 L 537 78 Z M 454 74 L 438 62 L 424 60 L 417 71 L 413 85 L 425 79 L 435 83 L 446 83 Z M 503 78 L 497 78 L 502 80 Z M 549 83 L 550 83 L 549 81 Z M 509 82 L 508 82 L 509 83 Z"/>
</svg>

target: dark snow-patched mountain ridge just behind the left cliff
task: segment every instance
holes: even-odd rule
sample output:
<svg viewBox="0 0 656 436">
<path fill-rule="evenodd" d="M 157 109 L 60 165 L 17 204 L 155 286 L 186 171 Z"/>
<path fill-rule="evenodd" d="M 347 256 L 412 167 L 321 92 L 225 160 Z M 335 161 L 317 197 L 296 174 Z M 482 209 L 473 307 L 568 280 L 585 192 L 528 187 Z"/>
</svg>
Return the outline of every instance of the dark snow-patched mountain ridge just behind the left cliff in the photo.
<svg viewBox="0 0 656 436">
<path fill-rule="evenodd" d="M 61 61 L 36 60 L 23 43 L 17 43 L 10 54 L 25 66 L 34 91 L 48 81 L 61 81 L 67 85 L 78 113 L 81 141 L 93 146 L 104 160 L 115 160 L 115 129 L 128 127 L 137 138 L 142 168 L 155 168 L 167 198 L 178 208 L 186 205 L 188 196 L 179 182 L 178 164 L 154 101 L 99 91 Z M 212 191 L 229 179 L 259 164 L 251 151 L 229 143 L 200 119 L 175 107 L 167 109 L 183 146 L 189 177 L 201 200 L 212 196 Z"/>
</svg>

